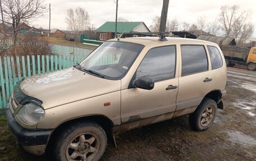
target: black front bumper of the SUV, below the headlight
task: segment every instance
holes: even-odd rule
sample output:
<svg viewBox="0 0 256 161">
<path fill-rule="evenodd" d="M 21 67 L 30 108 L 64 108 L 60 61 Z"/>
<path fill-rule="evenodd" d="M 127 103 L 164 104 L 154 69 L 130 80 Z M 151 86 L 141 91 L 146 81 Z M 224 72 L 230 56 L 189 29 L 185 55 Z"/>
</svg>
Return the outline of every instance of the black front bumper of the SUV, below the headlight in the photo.
<svg viewBox="0 0 256 161">
<path fill-rule="evenodd" d="M 35 155 L 43 155 L 52 129 L 28 129 L 20 126 L 13 118 L 9 108 L 6 109 L 7 122 L 18 145 Z"/>
</svg>

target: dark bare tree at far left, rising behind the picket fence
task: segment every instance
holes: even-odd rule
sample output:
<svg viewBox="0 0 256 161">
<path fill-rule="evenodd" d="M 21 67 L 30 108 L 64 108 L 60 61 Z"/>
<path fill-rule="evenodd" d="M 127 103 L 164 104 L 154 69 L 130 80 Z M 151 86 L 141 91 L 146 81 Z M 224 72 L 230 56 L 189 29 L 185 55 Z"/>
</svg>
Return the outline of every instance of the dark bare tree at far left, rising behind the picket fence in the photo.
<svg viewBox="0 0 256 161">
<path fill-rule="evenodd" d="M 16 44 L 21 22 L 43 16 L 46 11 L 44 0 L 2 0 L 4 23 L 12 26 L 13 44 Z"/>
</svg>

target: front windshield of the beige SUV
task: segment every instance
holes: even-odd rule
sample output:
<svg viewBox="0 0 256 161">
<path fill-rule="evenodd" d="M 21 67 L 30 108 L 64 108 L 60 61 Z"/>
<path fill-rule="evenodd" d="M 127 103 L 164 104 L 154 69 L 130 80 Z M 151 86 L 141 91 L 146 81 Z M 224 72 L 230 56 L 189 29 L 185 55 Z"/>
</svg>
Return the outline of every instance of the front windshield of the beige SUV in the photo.
<svg viewBox="0 0 256 161">
<path fill-rule="evenodd" d="M 81 68 L 95 76 L 118 80 L 125 76 L 143 45 L 105 42 L 80 63 Z"/>
</svg>

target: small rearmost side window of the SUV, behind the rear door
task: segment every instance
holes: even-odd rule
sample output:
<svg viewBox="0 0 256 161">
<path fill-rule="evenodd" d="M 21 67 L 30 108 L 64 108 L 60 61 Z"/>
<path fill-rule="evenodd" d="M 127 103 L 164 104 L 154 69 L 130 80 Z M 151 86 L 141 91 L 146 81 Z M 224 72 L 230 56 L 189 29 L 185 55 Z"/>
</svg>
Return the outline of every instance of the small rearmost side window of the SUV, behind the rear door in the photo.
<svg viewBox="0 0 256 161">
<path fill-rule="evenodd" d="M 221 53 L 218 51 L 218 49 L 212 46 L 207 46 L 207 48 L 211 57 L 212 70 L 222 67 L 223 62 L 221 58 Z"/>
</svg>

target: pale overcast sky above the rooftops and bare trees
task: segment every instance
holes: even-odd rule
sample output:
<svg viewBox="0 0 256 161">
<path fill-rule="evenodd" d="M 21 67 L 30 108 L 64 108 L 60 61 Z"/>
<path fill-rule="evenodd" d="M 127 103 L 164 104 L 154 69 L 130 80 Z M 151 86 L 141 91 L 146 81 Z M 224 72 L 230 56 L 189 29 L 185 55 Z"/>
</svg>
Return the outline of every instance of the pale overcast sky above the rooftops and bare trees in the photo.
<svg viewBox="0 0 256 161">
<path fill-rule="evenodd" d="M 51 3 L 51 28 L 66 30 L 65 17 L 68 8 L 85 8 L 89 13 L 91 24 L 97 28 L 106 21 L 115 21 L 115 1 L 45 0 L 45 3 Z M 170 0 L 167 19 L 171 20 L 176 17 L 180 23 L 186 21 L 196 24 L 198 17 L 205 16 L 207 22 L 210 22 L 218 17 L 221 6 L 234 4 L 239 5 L 241 10 L 252 11 L 251 19 L 253 24 L 256 24 L 255 0 Z M 154 16 L 161 15 L 161 10 L 162 0 L 118 0 L 118 17 L 129 21 L 144 21 L 148 27 Z M 30 25 L 47 29 L 49 13 L 45 13 L 44 17 L 40 17 Z"/>
</svg>

